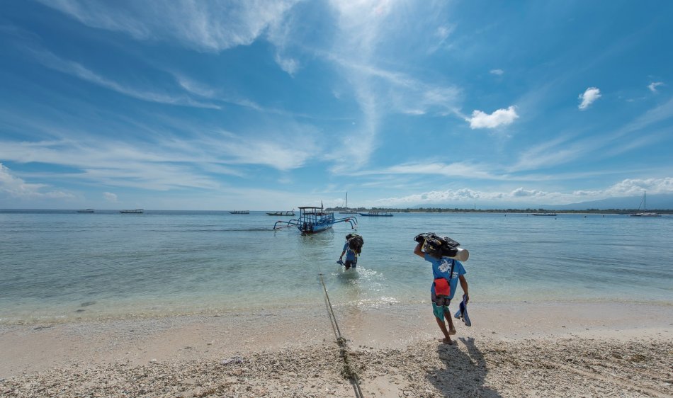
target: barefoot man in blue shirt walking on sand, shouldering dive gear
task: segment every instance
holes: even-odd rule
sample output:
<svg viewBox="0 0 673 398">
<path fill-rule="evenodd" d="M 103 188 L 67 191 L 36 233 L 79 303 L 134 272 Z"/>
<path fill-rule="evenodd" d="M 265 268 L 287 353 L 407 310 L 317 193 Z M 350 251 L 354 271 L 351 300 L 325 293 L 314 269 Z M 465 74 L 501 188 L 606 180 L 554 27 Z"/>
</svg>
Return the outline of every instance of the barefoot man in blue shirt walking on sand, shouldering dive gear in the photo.
<svg viewBox="0 0 673 398">
<path fill-rule="evenodd" d="M 431 246 L 424 246 L 421 243 L 416 245 L 414 254 L 432 263 L 432 275 L 434 276 L 434 282 L 430 288 L 432 312 L 435 315 L 439 329 L 444 334 L 443 343 L 453 344 L 451 335 L 456 334 L 456 328 L 453 326 L 451 312 L 448 311 L 448 304 L 451 302 L 453 295 L 456 294 L 458 280 L 460 280 L 460 288 L 463 288 L 465 304 L 470 300 L 468 281 L 465 280 L 463 263 L 453 258 L 443 257 L 441 252 L 435 251 Z M 447 288 L 450 290 L 447 291 Z M 446 330 L 446 324 L 444 324 L 445 318 L 448 322 L 448 330 Z"/>
</svg>

